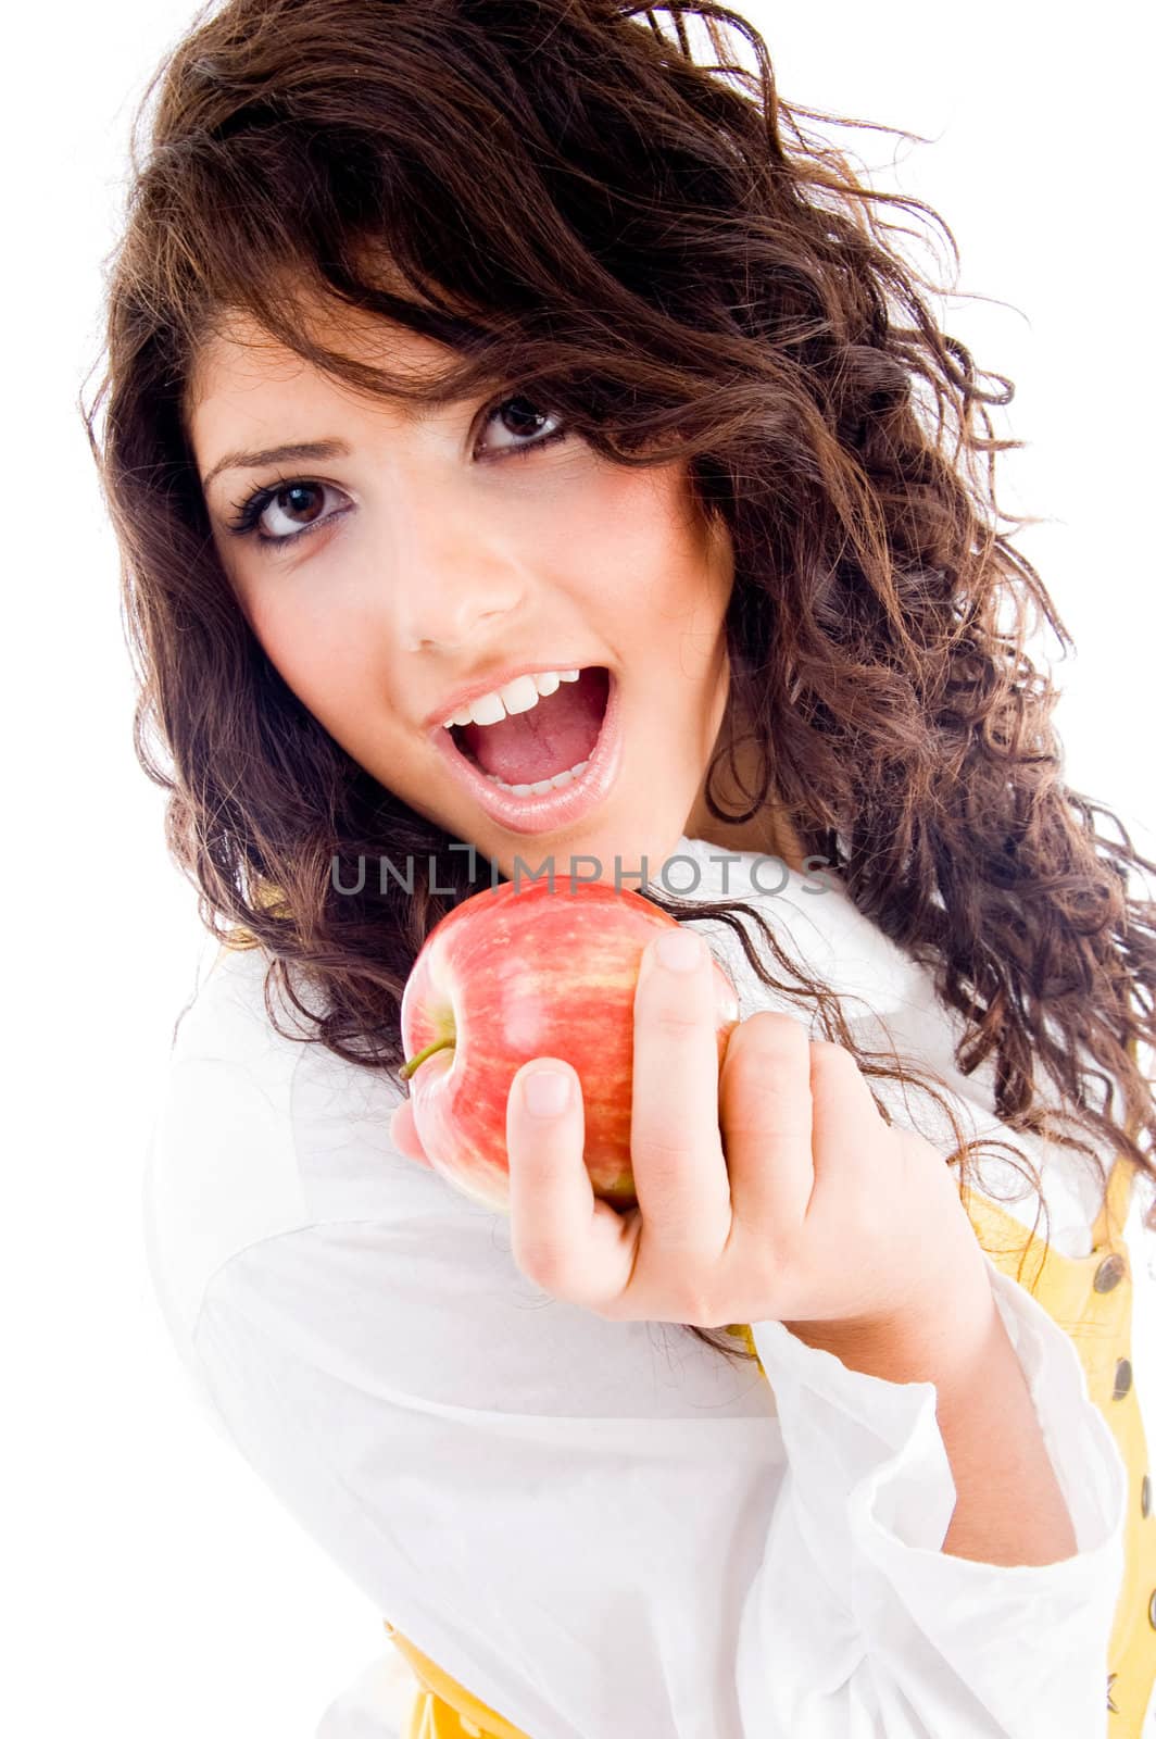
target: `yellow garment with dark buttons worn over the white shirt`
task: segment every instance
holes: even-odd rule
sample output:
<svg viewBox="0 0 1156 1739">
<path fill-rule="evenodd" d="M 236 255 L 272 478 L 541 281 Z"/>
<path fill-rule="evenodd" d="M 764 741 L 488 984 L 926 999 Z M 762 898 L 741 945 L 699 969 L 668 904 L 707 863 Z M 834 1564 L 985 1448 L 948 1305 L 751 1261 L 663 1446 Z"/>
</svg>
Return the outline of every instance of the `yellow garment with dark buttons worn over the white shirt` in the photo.
<svg viewBox="0 0 1156 1739">
<path fill-rule="evenodd" d="M 1144 1423 L 1132 1383 L 1132 1273 L 1123 1236 L 1132 1177 L 1133 1165 L 1121 1155 L 1092 1229 L 1092 1252 L 1080 1257 L 1060 1256 L 973 1189 L 965 1203 L 996 1268 L 1026 1285 L 1071 1336 L 1088 1396 L 1107 1419 L 1128 1469 L 1125 1576 L 1107 1656 L 1109 1739 L 1147 1739 L 1140 1729 L 1156 1683 L 1156 1520 Z M 754 1351 L 749 1325 L 735 1323 L 734 1332 Z M 528 1739 L 388 1621 L 386 1631 L 417 1682 L 405 1739 Z"/>
</svg>

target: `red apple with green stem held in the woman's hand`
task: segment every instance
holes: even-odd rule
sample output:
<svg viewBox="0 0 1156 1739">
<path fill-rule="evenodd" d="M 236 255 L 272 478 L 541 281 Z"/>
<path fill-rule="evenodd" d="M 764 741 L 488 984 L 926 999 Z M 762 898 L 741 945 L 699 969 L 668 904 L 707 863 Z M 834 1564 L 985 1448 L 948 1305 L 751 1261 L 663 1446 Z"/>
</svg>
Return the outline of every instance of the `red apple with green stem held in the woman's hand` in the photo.
<svg viewBox="0 0 1156 1739">
<path fill-rule="evenodd" d="M 402 996 L 403 1078 L 433 1170 L 509 1210 L 506 1101 L 532 1057 L 561 1057 L 582 1083 L 586 1169 L 596 1196 L 636 1203 L 631 1174 L 634 986 L 647 943 L 674 918 L 601 882 L 504 882 L 455 906 L 426 937 Z M 721 1068 L 739 1019 L 714 962 Z"/>
</svg>

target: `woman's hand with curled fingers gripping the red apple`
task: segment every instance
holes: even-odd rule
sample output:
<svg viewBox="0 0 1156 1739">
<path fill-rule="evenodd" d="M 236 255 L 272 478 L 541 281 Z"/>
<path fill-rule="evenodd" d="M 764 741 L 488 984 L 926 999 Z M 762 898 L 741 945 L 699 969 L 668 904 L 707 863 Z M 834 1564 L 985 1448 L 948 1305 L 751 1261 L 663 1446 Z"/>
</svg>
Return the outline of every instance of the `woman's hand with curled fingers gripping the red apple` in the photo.
<svg viewBox="0 0 1156 1739">
<path fill-rule="evenodd" d="M 664 943 L 695 958 L 666 965 Z M 568 1083 L 563 1109 L 530 1108 L 542 1075 Z M 410 1125 L 402 1108 L 391 1129 L 417 1158 Z M 688 927 L 647 946 L 634 995 L 636 1209 L 595 1196 L 582 1134 L 577 1073 L 525 1063 L 506 1108 L 511 1249 L 558 1299 L 612 1320 L 774 1320 L 833 1351 L 899 1336 L 930 1349 L 940 1306 L 961 1336 L 991 1322 L 949 1167 L 883 1122 L 850 1052 L 760 1012 L 732 1029 L 720 1071 L 709 953 Z"/>
</svg>

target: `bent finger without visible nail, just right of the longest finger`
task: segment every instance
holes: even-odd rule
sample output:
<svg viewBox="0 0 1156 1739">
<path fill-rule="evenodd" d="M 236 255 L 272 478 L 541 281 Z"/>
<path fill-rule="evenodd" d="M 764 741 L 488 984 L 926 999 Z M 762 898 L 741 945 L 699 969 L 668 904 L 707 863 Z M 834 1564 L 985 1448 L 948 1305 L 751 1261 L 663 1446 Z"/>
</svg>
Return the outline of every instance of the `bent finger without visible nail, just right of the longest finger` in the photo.
<svg viewBox="0 0 1156 1739">
<path fill-rule="evenodd" d="M 760 1249 L 798 1231 L 815 1184 L 812 1049 L 794 1016 L 760 1010 L 732 1031 L 723 1057 L 718 1099 L 732 1214 Z"/>
</svg>

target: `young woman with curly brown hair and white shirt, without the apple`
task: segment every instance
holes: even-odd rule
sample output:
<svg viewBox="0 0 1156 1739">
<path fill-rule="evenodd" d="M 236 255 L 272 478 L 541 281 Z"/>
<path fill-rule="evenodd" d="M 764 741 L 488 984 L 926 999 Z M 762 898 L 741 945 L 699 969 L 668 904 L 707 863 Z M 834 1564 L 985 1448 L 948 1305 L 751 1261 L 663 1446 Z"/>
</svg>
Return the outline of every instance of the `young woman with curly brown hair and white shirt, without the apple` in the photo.
<svg viewBox="0 0 1156 1739">
<path fill-rule="evenodd" d="M 224 944 L 151 1254 L 410 1736 L 1151 1732 L 1156 866 L 1060 777 L 1008 383 L 720 5 L 231 0 L 148 104 L 87 417 Z M 683 925 L 629 1214 L 565 1061 L 509 1217 L 398 1078 L 548 861 Z"/>
</svg>

